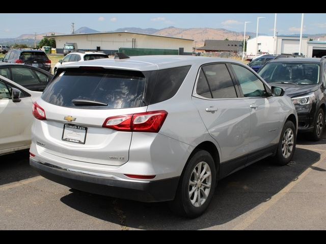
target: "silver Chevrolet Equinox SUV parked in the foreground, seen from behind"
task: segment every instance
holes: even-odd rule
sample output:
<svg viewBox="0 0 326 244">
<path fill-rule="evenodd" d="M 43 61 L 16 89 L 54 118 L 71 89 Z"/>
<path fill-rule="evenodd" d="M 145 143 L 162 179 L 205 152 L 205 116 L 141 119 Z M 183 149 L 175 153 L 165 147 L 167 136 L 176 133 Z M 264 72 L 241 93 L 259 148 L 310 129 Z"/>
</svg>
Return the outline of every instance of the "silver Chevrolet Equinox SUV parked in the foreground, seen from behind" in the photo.
<svg viewBox="0 0 326 244">
<path fill-rule="evenodd" d="M 33 107 L 30 164 L 41 175 L 90 193 L 170 201 L 193 218 L 217 180 L 268 156 L 291 160 L 294 105 L 252 69 L 223 58 L 124 57 L 58 69 Z"/>
</svg>

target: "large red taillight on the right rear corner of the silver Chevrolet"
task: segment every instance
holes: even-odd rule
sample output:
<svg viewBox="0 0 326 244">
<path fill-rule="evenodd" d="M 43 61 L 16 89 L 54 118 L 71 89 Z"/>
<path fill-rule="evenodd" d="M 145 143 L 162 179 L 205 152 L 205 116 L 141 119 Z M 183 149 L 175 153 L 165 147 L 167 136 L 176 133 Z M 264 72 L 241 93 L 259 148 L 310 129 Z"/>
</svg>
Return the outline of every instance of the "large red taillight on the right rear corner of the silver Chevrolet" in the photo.
<svg viewBox="0 0 326 244">
<path fill-rule="evenodd" d="M 116 131 L 157 133 L 161 129 L 167 115 L 167 111 L 159 110 L 113 116 L 106 118 L 102 127 Z"/>
</svg>

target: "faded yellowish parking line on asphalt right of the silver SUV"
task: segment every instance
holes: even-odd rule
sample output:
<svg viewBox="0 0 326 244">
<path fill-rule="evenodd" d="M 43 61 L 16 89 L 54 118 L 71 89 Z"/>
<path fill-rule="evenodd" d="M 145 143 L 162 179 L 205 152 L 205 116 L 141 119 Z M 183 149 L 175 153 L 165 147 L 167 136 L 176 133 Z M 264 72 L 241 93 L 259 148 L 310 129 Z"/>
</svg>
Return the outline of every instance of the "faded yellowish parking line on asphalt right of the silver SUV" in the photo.
<svg viewBox="0 0 326 244">
<path fill-rule="evenodd" d="M 324 151 L 324 150 L 322 150 Z M 322 154 L 322 157 L 313 165 L 311 166 L 318 166 L 321 162 L 324 161 L 324 159 L 326 158 L 326 154 Z M 241 221 L 239 224 L 237 224 L 235 227 L 233 227 L 233 230 L 244 230 L 246 229 L 248 226 L 250 226 L 255 220 L 257 220 L 262 214 L 264 214 L 264 212 L 270 208 L 271 206 L 273 206 L 275 203 L 277 203 L 284 195 L 286 195 L 295 185 L 298 184 L 298 182 L 300 182 L 311 170 L 312 167 L 309 167 L 308 169 L 306 169 L 301 175 L 299 175 L 296 179 L 294 179 L 293 181 L 291 181 L 285 188 L 283 188 L 280 192 L 278 192 L 277 194 L 275 194 L 274 196 L 272 196 L 270 198 L 270 200 L 261 203 L 258 207 L 256 207 L 256 209 L 243 221 Z"/>
</svg>

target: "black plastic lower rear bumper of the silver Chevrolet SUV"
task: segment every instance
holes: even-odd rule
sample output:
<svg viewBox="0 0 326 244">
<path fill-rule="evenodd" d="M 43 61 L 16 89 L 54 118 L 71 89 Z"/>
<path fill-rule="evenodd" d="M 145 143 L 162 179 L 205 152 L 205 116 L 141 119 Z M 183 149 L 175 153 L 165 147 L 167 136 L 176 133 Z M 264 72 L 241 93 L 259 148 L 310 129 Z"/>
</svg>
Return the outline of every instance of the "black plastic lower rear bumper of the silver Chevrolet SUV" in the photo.
<svg viewBox="0 0 326 244">
<path fill-rule="evenodd" d="M 114 180 L 91 173 L 73 172 L 52 164 L 38 163 L 31 158 L 30 165 L 43 177 L 72 189 L 141 202 L 173 200 L 179 182 L 179 177 L 144 182 Z"/>
</svg>

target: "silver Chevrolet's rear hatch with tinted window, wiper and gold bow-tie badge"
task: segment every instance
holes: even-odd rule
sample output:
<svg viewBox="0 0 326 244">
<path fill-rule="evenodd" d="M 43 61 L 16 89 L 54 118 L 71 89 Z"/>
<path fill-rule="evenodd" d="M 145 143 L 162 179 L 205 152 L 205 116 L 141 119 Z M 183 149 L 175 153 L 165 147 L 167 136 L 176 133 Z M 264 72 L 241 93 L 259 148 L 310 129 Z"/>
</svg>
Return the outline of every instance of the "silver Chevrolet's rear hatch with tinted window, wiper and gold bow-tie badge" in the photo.
<svg viewBox="0 0 326 244">
<path fill-rule="evenodd" d="M 122 165 L 128 161 L 132 132 L 103 124 L 108 117 L 146 111 L 145 76 L 139 71 L 89 67 L 94 68 L 66 69 L 49 83 L 37 102 L 46 117 L 36 123 L 37 140 L 52 155 Z"/>
</svg>

